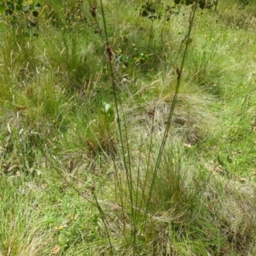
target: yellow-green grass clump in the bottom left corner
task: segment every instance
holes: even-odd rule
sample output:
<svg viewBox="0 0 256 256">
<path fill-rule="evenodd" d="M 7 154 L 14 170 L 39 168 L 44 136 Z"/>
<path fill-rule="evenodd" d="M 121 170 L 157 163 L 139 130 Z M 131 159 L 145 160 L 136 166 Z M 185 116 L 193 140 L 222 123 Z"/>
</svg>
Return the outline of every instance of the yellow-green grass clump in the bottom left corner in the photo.
<svg viewBox="0 0 256 256">
<path fill-rule="evenodd" d="M 6 255 L 44 253 L 52 239 L 49 230 L 42 229 L 37 203 L 22 176 L 1 178 L 1 188 L 9 187 L 1 191 L 0 252 Z"/>
</svg>

